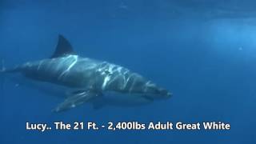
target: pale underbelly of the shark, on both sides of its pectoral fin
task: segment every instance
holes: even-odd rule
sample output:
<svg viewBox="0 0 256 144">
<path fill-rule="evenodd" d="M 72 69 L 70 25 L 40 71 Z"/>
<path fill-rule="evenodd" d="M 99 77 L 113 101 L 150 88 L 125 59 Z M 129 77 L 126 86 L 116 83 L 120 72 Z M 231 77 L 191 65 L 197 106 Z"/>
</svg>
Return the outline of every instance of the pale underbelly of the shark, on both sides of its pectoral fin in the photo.
<svg viewBox="0 0 256 144">
<path fill-rule="evenodd" d="M 43 94 L 58 98 L 66 98 L 72 91 L 76 90 L 66 86 L 50 84 L 49 82 L 37 82 L 17 76 L 10 76 L 7 79 L 14 82 L 15 85 L 18 84 L 18 86 L 32 88 Z M 113 91 L 104 91 L 101 97 L 104 106 L 142 106 L 151 102 L 150 100 L 143 98 L 140 94 L 122 94 Z M 94 103 L 94 101 L 90 101 L 90 103 Z"/>
</svg>

